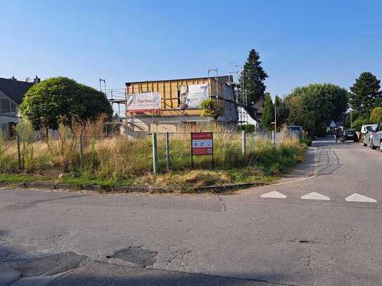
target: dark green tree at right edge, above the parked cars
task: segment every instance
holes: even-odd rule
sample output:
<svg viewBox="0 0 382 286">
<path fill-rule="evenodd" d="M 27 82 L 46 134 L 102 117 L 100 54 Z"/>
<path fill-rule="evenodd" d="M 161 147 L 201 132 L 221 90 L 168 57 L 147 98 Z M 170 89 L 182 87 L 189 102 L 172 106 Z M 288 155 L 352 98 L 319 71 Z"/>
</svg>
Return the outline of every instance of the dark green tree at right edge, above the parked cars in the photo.
<svg viewBox="0 0 382 286">
<path fill-rule="evenodd" d="M 378 91 L 381 88 L 381 81 L 371 72 L 362 72 L 355 84 L 350 86 L 350 105 L 354 110 L 369 117 L 372 108 L 381 102 L 381 95 Z"/>
</svg>

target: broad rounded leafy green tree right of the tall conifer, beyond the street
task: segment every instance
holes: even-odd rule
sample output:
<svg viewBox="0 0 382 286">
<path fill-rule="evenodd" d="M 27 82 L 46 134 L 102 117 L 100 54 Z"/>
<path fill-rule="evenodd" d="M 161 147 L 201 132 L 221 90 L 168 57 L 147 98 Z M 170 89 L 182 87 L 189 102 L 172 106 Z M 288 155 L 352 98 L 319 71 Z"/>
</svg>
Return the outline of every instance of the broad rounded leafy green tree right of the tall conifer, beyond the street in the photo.
<svg viewBox="0 0 382 286">
<path fill-rule="evenodd" d="M 311 136 L 326 134 L 326 124 L 340 122 L 348 109 L 348 91 L 333 84 L 297 87 L 286 97 L 288 124 L 303 126 Z"/>
</svg>

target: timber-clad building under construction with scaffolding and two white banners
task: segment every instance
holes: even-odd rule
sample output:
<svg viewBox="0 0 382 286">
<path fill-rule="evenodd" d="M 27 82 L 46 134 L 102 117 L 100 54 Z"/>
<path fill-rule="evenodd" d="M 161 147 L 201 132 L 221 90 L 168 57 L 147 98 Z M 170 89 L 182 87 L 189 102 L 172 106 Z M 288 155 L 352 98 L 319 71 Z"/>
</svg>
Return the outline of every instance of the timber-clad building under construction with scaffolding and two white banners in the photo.
<svg viewBox="0 0 382 286">
<path fill-rule="evenodd" d="M 231 76 L 126 83 L 126 131 L 174 132 L 213 122 L 203 117 L 203 100 L 215 101 L 219 124 L 238 124 L 243 100 Z"/>
</svg>

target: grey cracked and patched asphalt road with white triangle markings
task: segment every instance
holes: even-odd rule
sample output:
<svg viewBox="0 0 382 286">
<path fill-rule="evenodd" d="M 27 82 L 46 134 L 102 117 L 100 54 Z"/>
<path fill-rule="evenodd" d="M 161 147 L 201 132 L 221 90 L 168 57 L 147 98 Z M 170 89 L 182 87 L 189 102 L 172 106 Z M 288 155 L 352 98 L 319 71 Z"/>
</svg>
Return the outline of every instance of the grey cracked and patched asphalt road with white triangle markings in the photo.
<svg viewBox="0 0 382 286">
<path fill-rule="evenodd" d="M 381 186 L 326 138 L 239 195 L 0 190 L 0 285 L 382 285 Z"/>
</svg>

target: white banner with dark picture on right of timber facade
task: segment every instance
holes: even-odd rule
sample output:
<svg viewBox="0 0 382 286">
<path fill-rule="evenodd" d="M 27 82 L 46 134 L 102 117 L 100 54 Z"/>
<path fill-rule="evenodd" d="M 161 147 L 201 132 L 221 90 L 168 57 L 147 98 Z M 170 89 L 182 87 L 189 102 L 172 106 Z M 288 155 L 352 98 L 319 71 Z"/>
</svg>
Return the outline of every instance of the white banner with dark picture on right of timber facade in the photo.
<svg viewBox="0 0 382 286">
<path fill-rule="evenodd" d="M 190 84 L 180 86 L 180 108 L 200 108 L 203 100 L 210 97 L 210 86 L 208 84 Z"/>
</svg>

